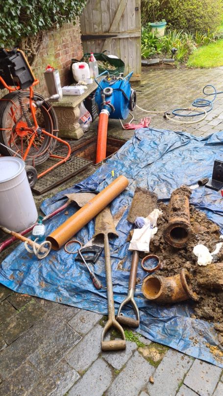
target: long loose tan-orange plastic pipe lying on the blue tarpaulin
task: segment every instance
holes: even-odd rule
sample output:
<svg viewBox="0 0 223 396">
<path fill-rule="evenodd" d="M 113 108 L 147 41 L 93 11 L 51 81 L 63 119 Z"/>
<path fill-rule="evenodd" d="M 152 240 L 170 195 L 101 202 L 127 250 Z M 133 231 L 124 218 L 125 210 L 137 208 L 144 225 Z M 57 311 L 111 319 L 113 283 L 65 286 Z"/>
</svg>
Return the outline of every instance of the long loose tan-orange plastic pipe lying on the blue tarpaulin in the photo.
<svg viewBox="0 0 223 396">
<path fill-rule="evenodd" d="M 52 244 L 52 249 L 60 249 L 61 246 L 72 238 L 72 236 L 124 191 L 127 186 L 128 179 L 125 176 L 119 176 L 86 205 L 77 210 L 73 216 L 67 219 L 65 223 L 61 224 L 47 237 L 47 240 Z"/>
</svg>

